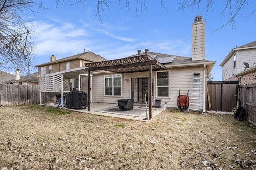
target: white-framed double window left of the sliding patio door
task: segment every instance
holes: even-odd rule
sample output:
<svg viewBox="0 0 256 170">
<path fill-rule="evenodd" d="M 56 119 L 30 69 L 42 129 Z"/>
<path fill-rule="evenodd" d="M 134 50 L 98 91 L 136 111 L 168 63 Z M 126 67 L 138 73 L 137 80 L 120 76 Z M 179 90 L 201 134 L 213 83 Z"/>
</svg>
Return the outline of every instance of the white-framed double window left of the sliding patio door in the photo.
<svg viewBox="0 0 256 170">
<path fill-rule="evenodd" d="M 105 75 L 105 95 L 122 95 L 122 75 Z"/>
</svg>

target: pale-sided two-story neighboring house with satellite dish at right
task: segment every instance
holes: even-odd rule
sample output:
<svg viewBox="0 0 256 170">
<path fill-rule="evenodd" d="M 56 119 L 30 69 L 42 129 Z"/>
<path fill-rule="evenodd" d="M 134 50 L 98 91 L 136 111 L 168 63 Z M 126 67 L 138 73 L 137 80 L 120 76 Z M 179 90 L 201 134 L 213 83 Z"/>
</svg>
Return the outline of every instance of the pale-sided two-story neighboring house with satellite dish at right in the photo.
<svg viewBox="0 0 256 170">
<path fill-rule="evenodd" d="M 222 80 L 237 81 L 235 76 L 246 69 L 246 65 L 254 66 L 256 62 L 256 41 L 250 42 L 240 47 L 233 48 L 222 61 Z"/>
</svg>

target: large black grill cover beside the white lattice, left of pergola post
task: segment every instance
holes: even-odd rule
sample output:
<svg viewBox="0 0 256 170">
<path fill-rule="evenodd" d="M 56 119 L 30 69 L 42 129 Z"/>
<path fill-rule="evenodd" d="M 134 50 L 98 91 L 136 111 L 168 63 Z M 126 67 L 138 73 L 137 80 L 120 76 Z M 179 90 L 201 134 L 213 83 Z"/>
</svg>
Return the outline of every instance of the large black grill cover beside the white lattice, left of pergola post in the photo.
<svg viewBox="0 0 256 170">
<path fill-rule="evenodd" d="M 66 108 L 85 109 L 88 105 L 87 93 L 84 91 L 70 91 L 68 94 L 66 94 L 65 98 Z"/>
</svg>

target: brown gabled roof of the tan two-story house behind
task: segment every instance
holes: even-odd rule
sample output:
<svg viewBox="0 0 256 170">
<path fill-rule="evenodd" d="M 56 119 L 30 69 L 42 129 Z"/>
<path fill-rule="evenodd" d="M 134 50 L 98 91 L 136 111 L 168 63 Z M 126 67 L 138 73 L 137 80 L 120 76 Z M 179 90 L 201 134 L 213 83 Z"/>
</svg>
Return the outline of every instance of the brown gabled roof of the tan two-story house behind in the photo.
<svg viewBox="0 0 256 170">
<path fill-rule="evenodd" d="M 39 64 L 39 65 L 36 65 L 36 67 L 42 67 L 42 66 L 45 66 L 45 65 L 51 65 L 51 64 L 55 64 L 55 63 L 62 63 L 62 62 L 66 62 L 66 61 L 72 61 L 72 60 L 75 60 L 75 59 L 83 59 L 83 60 L 87 60 L 87 61 L 90 61 L 90 62 L 106 61 L 106 59 L 101 57 L 100 55 L 97 55 L 97 54 L 95 54 L 91 51 L 88 51 L 88 52 L 85 52 L 85 53 L 72 55 L 70 57 L 57 59 L 55 61 L 50 61 L 48 63 Z"/>
</svg>

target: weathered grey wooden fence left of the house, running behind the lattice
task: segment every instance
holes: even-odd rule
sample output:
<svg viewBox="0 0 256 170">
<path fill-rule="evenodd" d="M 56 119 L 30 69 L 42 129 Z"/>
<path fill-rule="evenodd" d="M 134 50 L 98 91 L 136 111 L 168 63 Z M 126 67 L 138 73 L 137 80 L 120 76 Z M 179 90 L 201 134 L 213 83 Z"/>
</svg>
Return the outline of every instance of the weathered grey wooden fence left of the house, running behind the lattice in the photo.
<svg viewBox="0 0 256 170">
<path fill-rule="evenodd" d="M 42 93 L 42 103 L 56 102 L 55 93 Z M 39 104 L 38 85 L 0 84 L 0 106 Z"/>
</svg>

